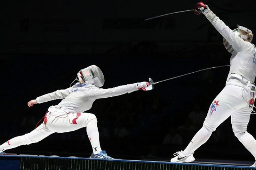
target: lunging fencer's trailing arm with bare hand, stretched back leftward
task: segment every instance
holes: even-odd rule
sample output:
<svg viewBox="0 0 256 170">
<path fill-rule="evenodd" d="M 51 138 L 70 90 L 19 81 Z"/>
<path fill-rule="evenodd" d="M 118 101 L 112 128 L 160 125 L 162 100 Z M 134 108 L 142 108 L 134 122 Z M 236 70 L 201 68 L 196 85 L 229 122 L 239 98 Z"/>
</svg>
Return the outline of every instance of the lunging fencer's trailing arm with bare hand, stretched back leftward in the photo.
<svg viewBox="0 0 256 170">
<path fill-rule="evenodd" d="M 72 87 L 69 87 L 67 89 L 57 90 L 55 92 L 51 92 L 51 93 L 39 96 L 34 100 L 30 100 L 28 102 L 28 107 L 32 107 L 34 104 L 37 104 L 37 103 L 44 103 L 44 102 L 56 100 L 56 99 L 64 99 L 70 93 L 71 88 Z"/>
</svg>

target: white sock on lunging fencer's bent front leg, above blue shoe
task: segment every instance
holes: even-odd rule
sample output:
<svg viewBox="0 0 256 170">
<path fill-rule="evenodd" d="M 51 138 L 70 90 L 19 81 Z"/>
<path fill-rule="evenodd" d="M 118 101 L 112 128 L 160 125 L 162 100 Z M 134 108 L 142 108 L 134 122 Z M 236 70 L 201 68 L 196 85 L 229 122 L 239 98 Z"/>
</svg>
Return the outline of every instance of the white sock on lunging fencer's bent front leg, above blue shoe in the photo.
<svg viewBox="0 0 256 170">
<path fill-rule="evenodd" d="M 92 151 L 94 154 L 100 153 L 100 137 L 99 137 L 99 131 L 97 127 L 97 122 L 90 123 L 86 127 L 87 135 L 89 137 L 89 140 L 92 145 Z"/>
</svg>

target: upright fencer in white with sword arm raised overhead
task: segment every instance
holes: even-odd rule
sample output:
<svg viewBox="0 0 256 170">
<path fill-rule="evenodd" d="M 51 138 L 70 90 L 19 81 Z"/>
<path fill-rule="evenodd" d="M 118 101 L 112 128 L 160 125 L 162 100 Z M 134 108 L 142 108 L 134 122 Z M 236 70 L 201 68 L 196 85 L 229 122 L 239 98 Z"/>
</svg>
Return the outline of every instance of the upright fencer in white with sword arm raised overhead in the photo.
<svg viewBox="0 0 256 170">
<path fill-rule="evenodd" d="M 211 136 L 212 132 L 231 115 L 232 129 L 238 140 L 256 159 L 256 140 L 249 134 L 250 120 L 255 99 L 256 48 L 251 43 L 252 31 L 238 26 L 231 30 L 204 3 L 195 6 L 223 36 L 227 50 L 232 53 L 226 86 L 212 101 L 203 127 L 196 133 L 184 151 L 176 152 L 171 162 L 192 162 L 193 153 Z M 256 167 L 256 162 L 252 165 Z"/>
</svg>

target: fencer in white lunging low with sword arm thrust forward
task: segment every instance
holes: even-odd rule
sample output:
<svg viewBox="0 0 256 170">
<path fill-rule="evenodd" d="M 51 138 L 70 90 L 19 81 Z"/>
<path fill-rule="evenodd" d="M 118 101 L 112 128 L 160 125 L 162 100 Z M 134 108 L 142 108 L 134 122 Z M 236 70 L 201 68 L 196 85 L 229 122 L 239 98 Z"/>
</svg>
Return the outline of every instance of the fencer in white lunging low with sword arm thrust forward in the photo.
<svg viewBox="0 0 256 170">
<path fill-rule="evenodd" d="M 94 114 L 83 113 L 92 107 L 96 99 L 131 93 L 137 90 L 146 90 L 148 82 L 121 85 L 114 88 L 102 89 L 104 76 L 99 67 L 91 65 L 77 73 L 78 83 L 64 90 L 57 90 L 37 97 L 28 102 L 28 107 L 36 103 L 63 99 L 56 106 L 48 108 L 44 122 L 36 129 L 23 136 L 14 137 L 0 145 L 0 152 L 20 145 L 36 143 L 54 132 L 63 133 L 86 127 L 88 138 L 92 145 L 91 158 L 113 159 L 100 148 L 97 118 Z"/>
</svg>

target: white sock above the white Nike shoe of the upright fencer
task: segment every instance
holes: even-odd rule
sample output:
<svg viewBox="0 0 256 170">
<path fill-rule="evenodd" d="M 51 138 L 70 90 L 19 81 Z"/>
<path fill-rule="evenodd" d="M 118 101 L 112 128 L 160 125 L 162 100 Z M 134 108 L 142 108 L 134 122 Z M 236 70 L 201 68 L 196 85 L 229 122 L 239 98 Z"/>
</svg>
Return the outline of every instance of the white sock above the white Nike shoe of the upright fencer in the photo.
<svg viewBox="0 0 256 170">
<path fill-rule="evenodd" d="M 192 138 L 187 148 L 183 151 L 184 155 L 195 152 L 202 144 L 204 144 L 212 135 L 204 126 Z"/>
</svg>

